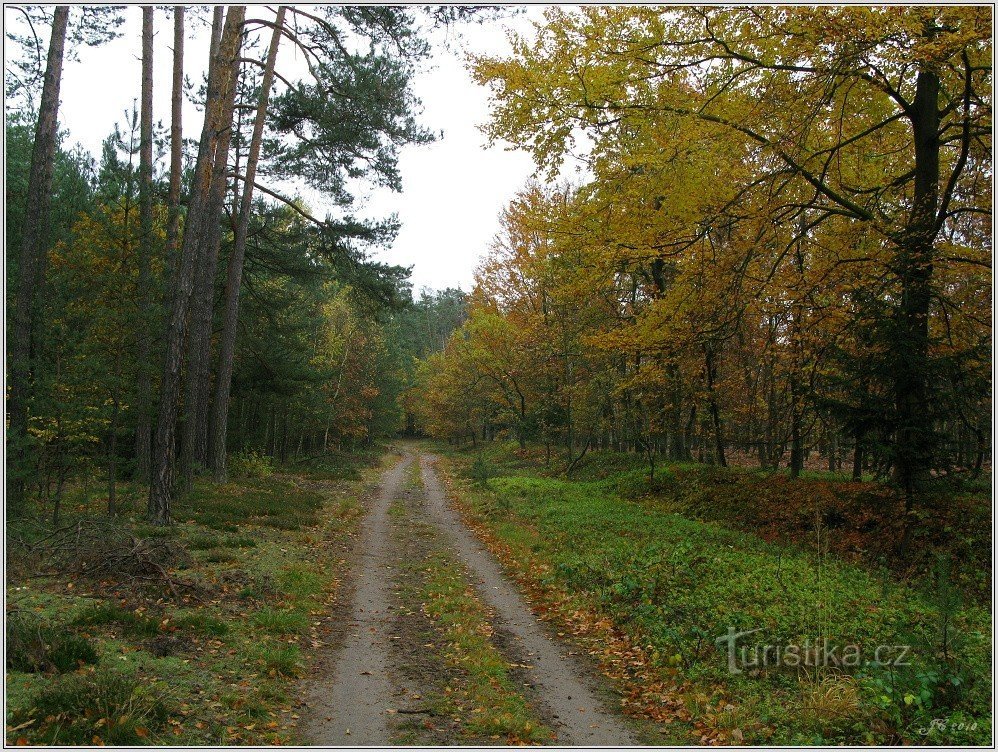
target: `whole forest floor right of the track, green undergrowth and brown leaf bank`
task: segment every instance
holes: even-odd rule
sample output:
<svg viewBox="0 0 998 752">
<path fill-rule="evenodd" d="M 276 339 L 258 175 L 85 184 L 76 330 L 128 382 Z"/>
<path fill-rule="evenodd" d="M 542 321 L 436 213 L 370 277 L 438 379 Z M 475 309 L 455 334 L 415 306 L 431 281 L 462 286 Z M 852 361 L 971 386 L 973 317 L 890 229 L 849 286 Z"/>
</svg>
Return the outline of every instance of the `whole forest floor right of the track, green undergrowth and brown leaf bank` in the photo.
<svg viewBox="0 0 998 752">
<path fill-rule="evenodd" d="M 987 479 L 925 500 L 898 555 L 883 484 L 437 451 L 465 521 L 659 743 L 990 743 Z M 729 651 L 732 630 L 752 632 Z"/>
</svg>

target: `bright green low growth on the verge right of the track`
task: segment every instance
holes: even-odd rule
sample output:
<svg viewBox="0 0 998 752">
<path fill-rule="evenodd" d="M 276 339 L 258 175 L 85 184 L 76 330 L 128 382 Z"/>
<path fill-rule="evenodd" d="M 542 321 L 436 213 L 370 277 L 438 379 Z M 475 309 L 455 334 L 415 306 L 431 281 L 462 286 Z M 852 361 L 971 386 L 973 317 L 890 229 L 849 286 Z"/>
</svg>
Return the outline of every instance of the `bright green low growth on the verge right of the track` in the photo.
<svg viewBox="0 0 998 752">
<path fill-rule="evenodd" d="M 829 552 L 834 530 L 821 532 L 820 522 L 810 539 L 790 544 L 726 525 L 720 512 L 709 520 L 677 513 L 675 499 L 694 496 L 729 509 L 726 497 L 744 497 L 750 473 L 669 467 L 657 491 L 646 482 L 635 493 L 640 479 L 624 463 L 592 463 L 565 480 L 540 477 L 536 464 L 509 455 L 489 457 L 488 490 L 470 481 L 470 456 L 452 458 L 452 474 L 468 478 L 457 487 L 473 518 L 558 618 L 587 612 L 593 623 L 609 619 L 638 646 L 650 670 L 622 681 L 676 686 L 677 713 L 693 719 L 699 735 L 691 743 L 990 740 L 985 604 L 945 602 L 938 581 L 902 584 L 846 561 Z M 943 627 L 959 635 L 959 645 L 944 643 Z M 784 664 L 730 674 L 715 644 L 729 628 L 761 628 L 748 645 L 826 637 L 864 651 L 910 645 L 911 665 L 809 673 Z M 938 717 L 977 725 L 922 735 Z"/>
</svg>

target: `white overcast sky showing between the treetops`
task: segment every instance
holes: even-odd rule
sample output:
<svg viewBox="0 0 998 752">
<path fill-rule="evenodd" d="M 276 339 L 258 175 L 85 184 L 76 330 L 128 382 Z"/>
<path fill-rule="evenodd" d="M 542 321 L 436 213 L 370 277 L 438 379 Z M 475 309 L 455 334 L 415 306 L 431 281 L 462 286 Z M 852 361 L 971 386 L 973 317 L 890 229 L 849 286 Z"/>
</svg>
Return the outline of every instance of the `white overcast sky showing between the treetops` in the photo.
<svg viewBox="0 0 998 752">
<path fill-rule="evenodd" d="M 264 7 L 250 8 L 271 17 Z M 497 230 L 497 216 L 513 194 L 532 175 L 530 157 L 508 151 L 503 145 L 487 148 L 478 126 L 488 119 L 488 92 L 472 82 L 465 67 L 466 52 L 503 54 L 509 49 L 507 27 L 531 34 L 531 19 L 543 7 L 531 6 L 520 14 L 494 23 L 462 25 L 457 43 L 449 50 L 437 45 L 433 68 L 414 82 L 423 102 L 421 122 L 443 131 L 442 140 L 429 146 L 406 148 L 400 169 L 401 194 L 380 190 L 364 198 L 362 216 L 397 212 L 402 222 L 392 248 L 380 252 L 381 260 L 412 266 L 412 281 L 422 287 L 470 289 L 474 269 Z M 63 74 L 60 127 L 67 130 L 67 146 L 79 142 L 99 157 L 102 140 L 115 122 L 124 120 L 138 97 L 141 52 L 141 8 L 126 8 L 121 36 L 100 48 L 82 48 L 78 60 L 67 60 Z M 5 21 L 15 16 L 5 8 Z M 207 61 L 208 29 L 189 19 L 185 45 L 185 72 L 195 81 Z M 172 66 L 172 13 L 157 9 L 154 47 L 154 118 L 169 123 Z M 48 30 L 44 30 L 45 36 Z M 452 41 L 454 34 L 451 34 Z M 294 65 L 291 45 L 281 48 L 282 65 Z M 189 104 L 184 111 L 184 134 L 200 133 L 201 114 Z M 307 200 L 316 203 L 312 195 Z M 321 205 L 313 206 L 321 216 Z"/>
</svg>

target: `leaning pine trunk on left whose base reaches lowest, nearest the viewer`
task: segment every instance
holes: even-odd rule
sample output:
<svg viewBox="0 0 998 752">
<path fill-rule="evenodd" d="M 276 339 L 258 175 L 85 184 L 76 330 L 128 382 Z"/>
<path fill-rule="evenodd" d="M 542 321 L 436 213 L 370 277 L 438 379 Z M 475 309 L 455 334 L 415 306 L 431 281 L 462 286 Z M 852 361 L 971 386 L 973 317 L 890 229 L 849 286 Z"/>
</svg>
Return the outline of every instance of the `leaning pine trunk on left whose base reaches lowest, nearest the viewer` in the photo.
<svg viewBox="0 0 998 752">
<path fill-rule="evenodd" d="M 222 81 L 228 77 L 233 66 L 238 67 L 237 57 L 245 12 L 245 6 L 233 6 L 229 9 L 225 18 L 225 29 L 218 45 L 218 54 L 213 57 L 212 64 L 209 66 L 205 122 L 201 131 L 198 159 L 194 168 L 194 183 L 187 213 L 184 242 L 177 265 L 175 292 L 166 338 L 166 357 L 163 363 L 163 378 L 160 387 L 159 413 L 153 445 L 149 519 L 157 524 L 165 525 L 170 522 L 173 471 L 171 454 L 177 426 L 177 398 L 180 394 L 180 369 L 183 361 L 187 314 L 190 308 L 191 293 L 194 289 L 198 249 L 203 241 L 203 236 L 211 225 L 218 223 L 218 217 L 207 216 L 207 210 L 212 183 L 212 168 L 215 163 L 215 147 L 221 131 L 231 126 L 231 122 L 223 123 L 221 119 L 223 111 L 221 95 L 224 88 Z M 220 14 L 216 13 L 216 27 L 219 20 Z"/>
</svg>

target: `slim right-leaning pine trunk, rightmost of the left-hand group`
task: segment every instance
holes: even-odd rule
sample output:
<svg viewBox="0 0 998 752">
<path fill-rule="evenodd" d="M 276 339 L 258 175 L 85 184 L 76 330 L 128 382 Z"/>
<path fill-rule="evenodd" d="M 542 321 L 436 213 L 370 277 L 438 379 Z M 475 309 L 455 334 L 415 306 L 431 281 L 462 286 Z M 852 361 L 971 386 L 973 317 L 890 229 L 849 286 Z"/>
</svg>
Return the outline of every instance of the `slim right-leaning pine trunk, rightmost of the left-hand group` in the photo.
<svg viewBox="0 0 998 752">
<path fill-rule="evenodd" d="M 260 99 L 257 102 L 256 120 L 253 123 L 253 137 L 249 154 L 246 157 L 246 175 L 243 181 L 243 194 L 239 204 L 239 218 L 236 223 L 232 253 L 225 283 L 225 309 L 222 318 L 222 337 L 218 346 L 218 367 L 215 372 L 215 398 L 212 405 L 211 427 L 211 467 L 215 480 L 224 483 L 226 476 L 226 434 L 229 424 L 229 395 L 232 389 L 232 363 L 236 352 L 236 324 L 239 319 L 239 288 L 242 285 L 243 262 L 246 258 L 246 236 L 249 230 L 250 211 L 253 206 L 253 183 L 256 180 L 257 163 L 260 160 L 260 145 L 263 142 L 263 126 L 267 116 L 267 103 L 274 83 L 274 66 L 277 61 L 277 48 L 281 41 L 281 29 L 287 9 L 280 6 L 274 21 L 274 33 L 267 51 L 267 63 L 263 81 L 260 84 Z M 327 429 L 328 439 L 328 429 Z M 325 448 L 325 445 L 323 446 Z"/>
</svg>

